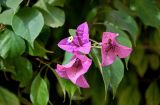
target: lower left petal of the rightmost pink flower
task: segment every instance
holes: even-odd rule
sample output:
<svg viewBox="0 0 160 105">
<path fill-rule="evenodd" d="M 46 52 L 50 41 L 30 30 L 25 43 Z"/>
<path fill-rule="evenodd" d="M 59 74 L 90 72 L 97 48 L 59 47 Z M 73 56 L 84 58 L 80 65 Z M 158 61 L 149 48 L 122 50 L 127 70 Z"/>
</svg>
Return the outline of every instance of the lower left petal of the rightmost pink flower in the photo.
<svg viewBox="0 0 160 105">
<path fill-rule="evenodd" d="M 108 66 L 116 60 L 116 55 L 112 50 L 105 51 L 107 46 L 102 45 L 101 55 L 102 55 L 102 66 Z"/>
</svg>

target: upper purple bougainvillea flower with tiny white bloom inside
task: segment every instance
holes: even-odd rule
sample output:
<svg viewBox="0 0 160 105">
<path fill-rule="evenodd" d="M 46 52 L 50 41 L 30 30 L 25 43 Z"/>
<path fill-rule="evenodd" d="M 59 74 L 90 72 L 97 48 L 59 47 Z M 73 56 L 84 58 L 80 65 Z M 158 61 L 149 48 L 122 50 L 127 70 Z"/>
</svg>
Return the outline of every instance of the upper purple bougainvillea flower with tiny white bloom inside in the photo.
<svg viewBox="0 0 160 105">
<path fill-rule="evenodd" d="M 76 35 L 62 39 L 58 46 L 68 52 L 81 52 L 88 54 L 91 50 L 91 42 L 89 41 L 88 25 L 83 23 L 78 26 Z"/>
</svg>

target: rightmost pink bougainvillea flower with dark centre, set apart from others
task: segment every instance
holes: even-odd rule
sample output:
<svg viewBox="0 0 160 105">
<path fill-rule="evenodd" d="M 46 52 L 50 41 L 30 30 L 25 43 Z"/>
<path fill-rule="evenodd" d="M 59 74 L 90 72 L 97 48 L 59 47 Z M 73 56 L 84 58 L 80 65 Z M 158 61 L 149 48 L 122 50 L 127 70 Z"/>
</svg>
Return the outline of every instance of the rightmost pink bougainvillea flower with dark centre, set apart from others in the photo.
<svg viewBox="0 0 160 105">
<path fill-rule="evenodd" d="M 119 44 L 116 41 L 118 34 L 112 32 L 103 32 L 102 36 L 102 66 L 112 64 L 118 55 L 120 58 L 126 58 L 132 52 L 132 49 Z"/>
</svg>

